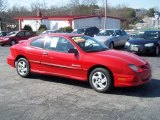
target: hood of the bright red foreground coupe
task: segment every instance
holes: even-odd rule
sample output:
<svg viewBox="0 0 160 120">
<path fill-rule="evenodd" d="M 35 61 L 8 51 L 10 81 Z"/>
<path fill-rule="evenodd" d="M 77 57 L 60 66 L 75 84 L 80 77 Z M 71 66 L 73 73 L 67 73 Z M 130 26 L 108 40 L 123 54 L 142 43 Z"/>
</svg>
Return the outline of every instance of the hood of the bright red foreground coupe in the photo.
<svg viewBox="0 0 160 120">
<path fill-rule="evenodd" d="M 102 52 L 95 52 L 94 55 L 96 57 L 103 57 L 110 60 L 118 60 L 118 62 L 122 62 L 125 64 L 134 64 L 136 66 L 142 66 L 146 64 L 146 61 L 143 58 L 125 51 L 106 50 Z"/>
</svg>

